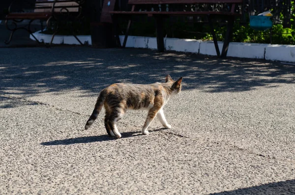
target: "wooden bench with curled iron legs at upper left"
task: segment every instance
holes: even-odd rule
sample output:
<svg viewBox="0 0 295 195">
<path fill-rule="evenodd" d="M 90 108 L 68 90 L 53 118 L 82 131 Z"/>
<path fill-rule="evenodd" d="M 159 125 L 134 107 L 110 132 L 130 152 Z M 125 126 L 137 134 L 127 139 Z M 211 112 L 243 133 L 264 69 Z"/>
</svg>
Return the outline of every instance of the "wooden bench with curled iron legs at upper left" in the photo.
<svg viewBox="0 0 295 195">
<path fill-rule="evenodd" d="M 13 1 L 8 8 L 9 13 L 5 17 L 6 28 L 11 30 L 9 40 L 5 40 L 5 43 L 9 44 L 11 42 L 13 33 L 18 29 L 27 30 L 38 43 L 41 43 L 30 29 L 30 25 L 34 20 L 40 20 L 41 30 L 43 30 L 42 24 L 44 21 L 46 21 L 48 29 L 54 29 L 49 44 L 51 45 L 54 36 L 64 27 L 65 22 L 74 22 L 79 19 L 83 2 L 84 0 L 36 0 L 34 4 L 31 4 L 30 1 L 26 0 Z M 29 7 L 29 12 L 24 12 L 22 6 L 27 7 L 27 9 Z M 22 25 L 21 22 L 24 20 L 29 20 L 28 24 Z M 9 21 L 12 21 L 12 28 Z M 74 32 L 72 35 L 83 45 Z"/>
</svg>

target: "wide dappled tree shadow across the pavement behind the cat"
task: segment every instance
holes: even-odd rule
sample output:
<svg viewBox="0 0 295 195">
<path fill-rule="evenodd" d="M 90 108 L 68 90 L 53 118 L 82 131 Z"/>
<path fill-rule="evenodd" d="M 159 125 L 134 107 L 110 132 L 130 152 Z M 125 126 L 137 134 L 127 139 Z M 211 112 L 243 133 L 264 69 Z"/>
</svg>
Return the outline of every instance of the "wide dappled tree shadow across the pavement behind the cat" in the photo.
<svg viewBox="0 0 295 195">
<path fill-rule="evenodd" d="M 239 92 L 295 83 L 295 66 L 253 59 L 217 59 L 145 49 L 90 47 L 2 48 L 0 94 L 36 96 L 83 90 L 95 95 L 109 84 L 164 82 L 183 77 L 183 90 Z"/>
</svg>

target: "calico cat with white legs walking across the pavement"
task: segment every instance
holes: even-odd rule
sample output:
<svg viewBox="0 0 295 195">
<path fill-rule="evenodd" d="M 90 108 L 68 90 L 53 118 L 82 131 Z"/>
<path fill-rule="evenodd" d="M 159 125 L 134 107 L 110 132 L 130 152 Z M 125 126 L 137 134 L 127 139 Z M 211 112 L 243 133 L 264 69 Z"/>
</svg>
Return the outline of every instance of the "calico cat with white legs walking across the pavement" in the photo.
<svg viewBox="0 0 295 195">
<path fill-rule="evenodd" d="M 161 124 L 170 129 L 167 123 L 163 107 L 168 100 L 181 91 L 182 77 L 173 81 L 170 75 L 165 78 L 165 83 L 155 84 L 112 84 L 100 91 L 94 110 L 89 117 L 85 129 L 88 129 L 104 106 L 106 110 L 105 128 L 111 137 L 120 138 L 116 123 L 127 110 L 148 110 L 148 116 L 142 128 L 142 134 L 148 135 L 148 126 L 154 117 L 160 120 Z"/>
</svg>

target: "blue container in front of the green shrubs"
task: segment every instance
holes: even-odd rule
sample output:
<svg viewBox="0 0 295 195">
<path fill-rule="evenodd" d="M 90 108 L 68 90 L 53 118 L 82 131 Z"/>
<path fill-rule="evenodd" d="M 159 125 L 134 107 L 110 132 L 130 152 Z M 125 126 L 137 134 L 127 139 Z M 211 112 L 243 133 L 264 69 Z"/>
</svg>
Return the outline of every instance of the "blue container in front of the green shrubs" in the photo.
<svg viewBox="0 0 295 195">
<path fill-rule="evenodd" d="M 272 27 L 270 16 L 250 16 L 250 28 L 254 30 L 267 30 Z"/>
</svg>

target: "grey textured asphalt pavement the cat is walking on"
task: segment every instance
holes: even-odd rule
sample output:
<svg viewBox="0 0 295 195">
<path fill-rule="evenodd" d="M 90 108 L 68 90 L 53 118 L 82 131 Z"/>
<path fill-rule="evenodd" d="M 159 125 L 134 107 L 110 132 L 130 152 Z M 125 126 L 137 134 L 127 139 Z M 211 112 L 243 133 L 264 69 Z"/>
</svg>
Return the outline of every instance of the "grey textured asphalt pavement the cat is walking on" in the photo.
<svg viewBox="0 0 295 195">
<path fill-rule="evenodd" d="M 99 91 L 183 77 L 164 108 L 109 138 Z M 295 67 L 142 49 L 0 48 L 0 194 L 295 194 Z"/>
</svg>

